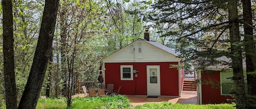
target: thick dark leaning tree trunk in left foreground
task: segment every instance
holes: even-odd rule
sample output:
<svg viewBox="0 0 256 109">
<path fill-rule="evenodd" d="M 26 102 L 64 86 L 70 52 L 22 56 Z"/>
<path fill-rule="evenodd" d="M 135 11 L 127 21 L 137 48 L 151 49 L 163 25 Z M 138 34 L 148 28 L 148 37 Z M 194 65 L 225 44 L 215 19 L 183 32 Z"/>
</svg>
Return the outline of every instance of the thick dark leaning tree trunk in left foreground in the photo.
<svg viewBox="0 0 256 109">
<path fill-rule="evenodd" d="M 19 108 L 35 108 L 52 50 L 59 0 L 46 0 L 34 59 Z"/>
</svg>

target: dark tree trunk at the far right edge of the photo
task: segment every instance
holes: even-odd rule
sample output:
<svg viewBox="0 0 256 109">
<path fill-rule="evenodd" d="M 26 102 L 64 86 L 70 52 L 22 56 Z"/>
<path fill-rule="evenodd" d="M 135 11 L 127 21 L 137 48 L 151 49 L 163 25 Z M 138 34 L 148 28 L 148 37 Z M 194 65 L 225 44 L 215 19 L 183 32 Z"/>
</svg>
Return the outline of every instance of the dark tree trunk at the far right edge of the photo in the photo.
<svg viewBox="0 0 256 109">
<path fill-rule="evenodd" d="M 256 95 L 256 77 L 251 72 L 255 71 L 255 44 L 253 40 L 252 8 L 250 0 L 243 0 L 243 28 L 245 30 L 246 72 L 248 94 Z"/>
</svg>

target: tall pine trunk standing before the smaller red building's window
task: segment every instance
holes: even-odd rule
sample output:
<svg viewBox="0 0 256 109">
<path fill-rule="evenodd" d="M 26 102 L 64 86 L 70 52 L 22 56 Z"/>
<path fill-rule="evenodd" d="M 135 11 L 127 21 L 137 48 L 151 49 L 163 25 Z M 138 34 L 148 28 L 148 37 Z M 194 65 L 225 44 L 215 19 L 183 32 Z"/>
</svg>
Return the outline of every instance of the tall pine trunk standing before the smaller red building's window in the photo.
<svg viewBox="0 0 256 109">
<path fill-rule="evenodd" d="M 239 16 L 237 15 L 237 1 L 228 1 L 229 35 L 231 44 L 231 59 L 233 67 L 233 81 L 235 85 L 235 99 L 237 109 L 246 109 L 245 81 L 242 67 L 242 44 L 240 42 Z"/>
</svg>

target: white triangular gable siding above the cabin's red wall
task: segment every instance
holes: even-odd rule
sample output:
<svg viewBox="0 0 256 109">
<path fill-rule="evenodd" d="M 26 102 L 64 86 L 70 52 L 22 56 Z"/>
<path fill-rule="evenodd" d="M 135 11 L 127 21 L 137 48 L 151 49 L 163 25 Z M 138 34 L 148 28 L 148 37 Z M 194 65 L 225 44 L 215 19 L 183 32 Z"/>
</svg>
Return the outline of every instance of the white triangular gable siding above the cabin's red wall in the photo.
<svg viewBox="0 0 256 109">
<path fill-rule="evenodd" d="M 141 43 L 137 43 L 141 41 Z M 175 55 L 165 52 L 142 40 L 135 41 L 116 53 L 103 59 L 103 62 L 179 62 Z M 135 48 L 133 52 L 133 48 Z M 141 48 L 141 53 L 139 52 Z M 135 58 L 134 58 L 135 56 Z"/>
</svg>

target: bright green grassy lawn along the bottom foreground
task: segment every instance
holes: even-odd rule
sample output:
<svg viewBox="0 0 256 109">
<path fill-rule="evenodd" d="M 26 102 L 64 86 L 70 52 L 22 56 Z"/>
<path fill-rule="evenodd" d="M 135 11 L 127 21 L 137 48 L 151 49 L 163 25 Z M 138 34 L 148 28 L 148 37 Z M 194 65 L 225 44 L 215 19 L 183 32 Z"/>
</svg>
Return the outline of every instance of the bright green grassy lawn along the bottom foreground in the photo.
<svg viewBox="0 0 256 109">
<path fill-rule="evenodd" d="M 134 108 L 134 109 L 150 109 L 150 108 L 181 108 L 181 109 L 235 109 L 235 104 L 220 104 L 220 105 L 195 105 L 195 104 L 171 104 L 170 102 L 149 103 L 141 106 L 132 106 L 129 103 L 129 100 L 122 96 L 106 96 L 106 97 L 85 97 L 85 98 L 73 98 L 72 106 L 68 109 L 85 109 L 85 108 L 98 108 L 98 109 L 107 109 L 107 108 Z M 2 108 L 5 108 L 2 105 Z M 37 104 L 37 109 L 64 109 L 67 108 L 66 99 L 55 99 L 55 98 L 46 98 L 39 99 Z"/>
</svg>

